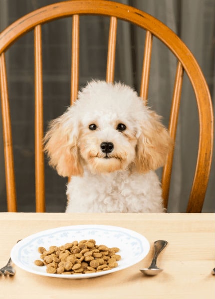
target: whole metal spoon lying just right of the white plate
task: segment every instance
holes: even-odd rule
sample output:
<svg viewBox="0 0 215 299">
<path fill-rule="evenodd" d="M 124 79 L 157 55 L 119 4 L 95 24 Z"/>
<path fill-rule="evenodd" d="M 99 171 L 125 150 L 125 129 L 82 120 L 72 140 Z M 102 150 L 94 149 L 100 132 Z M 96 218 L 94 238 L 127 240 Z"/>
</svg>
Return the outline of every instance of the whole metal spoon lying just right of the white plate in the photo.
<svg viewBox="0 0 215 299">
<path fill-rule="evenodd" d="M 161 251 L 166 247 L 167 245 L 167 241 L 164 240 L 158 240 L 154 242 L 154 248 L 155 248 L 155 253 L 154 253 L 154 257 L 152 259 L 152 264 L 150 265 L 149 268 L 143 268 L 140 269 L 140 271 L 146 275 L 157 275 L 160 272 L 163 271 L 163 269 L 160 269 L 157 267 L 156 262 L 157 262 L 157 258 L 159 256 L 159 254 L 161 253 Z"/>
</svg>

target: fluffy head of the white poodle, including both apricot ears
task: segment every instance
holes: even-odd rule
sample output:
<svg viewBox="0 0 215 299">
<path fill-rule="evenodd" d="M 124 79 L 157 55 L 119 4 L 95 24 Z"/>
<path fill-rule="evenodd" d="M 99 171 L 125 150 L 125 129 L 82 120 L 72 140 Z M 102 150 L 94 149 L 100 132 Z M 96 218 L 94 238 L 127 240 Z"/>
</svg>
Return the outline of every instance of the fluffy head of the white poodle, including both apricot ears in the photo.
<svg viewBox="0 0 215 299">
<path fill-rule="evenodd" d="M 116 170 L 147 172 L 164 165 L 172 147 L 160 117 L 130 87 L 92 81 L 45 136 L 49 163 L 62 176 Z"/>
</svg>

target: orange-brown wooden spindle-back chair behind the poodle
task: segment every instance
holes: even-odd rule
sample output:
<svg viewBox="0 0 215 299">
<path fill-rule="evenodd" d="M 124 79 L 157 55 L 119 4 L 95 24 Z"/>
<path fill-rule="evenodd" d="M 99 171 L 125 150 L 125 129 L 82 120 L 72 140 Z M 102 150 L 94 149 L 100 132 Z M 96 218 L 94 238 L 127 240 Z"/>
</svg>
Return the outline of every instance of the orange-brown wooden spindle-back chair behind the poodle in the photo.
<svg viewBox="0 0 215 299">
<path fill-rule="evenodd" d="M 72 16 L 72 53 L 71 53 L 71 103 L 78 91 L 79 68 L 79 16 L 83 14 L 110 16 L 106 80 L 114 81 L 115 46 L 117 38 L 117 20 L 131 22 L 146 30 L 145 50 L 142 68 L 140 96 L 146 100 L 148 95 L 149 74 L 153 36 L 160 39 L 177 57 L 178 66 L 175 76 L 175 87 L 172 96 L 172 108 L 169 130 L 175 139 L 179 115 L 180 96 L 183 74 L 187 73 L 193 86 L 199 112 L 200 137 L 196 172 L 193 179 L 187 212 L 201 212 L 207 189 L 213 147 L 213 108 L 208 86 L 204 75 L 191 51 L 182 40 L 166 25 L 153 16 L 134 7 L 107 0 L 68 0 L 51 4 L 16 20 L 0 33 L 0 90 L 5 157 L 5 177 L 7 206 L 9 212 L 16 211 L 16 191 L 13 166 L 13 150 L 8 102 L 5 51 L 23 34 L 34 30 L 35 56 L 35 196 L 36 212 L 45 211 L 44 161 L 43 161 L 43 83 L 42 83 L 42 50 L 41 27 L 44 23 Z M 162 186 L 165 206 L 168 204 L 172 151 L 163 168 Z"/>
</svg>

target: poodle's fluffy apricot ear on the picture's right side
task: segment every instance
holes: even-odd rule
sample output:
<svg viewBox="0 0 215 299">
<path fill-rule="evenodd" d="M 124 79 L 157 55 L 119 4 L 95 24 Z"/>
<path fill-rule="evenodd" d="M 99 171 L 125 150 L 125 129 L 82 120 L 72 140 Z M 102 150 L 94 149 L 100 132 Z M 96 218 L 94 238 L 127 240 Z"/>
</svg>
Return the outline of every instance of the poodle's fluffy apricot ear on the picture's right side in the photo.
<svg viewBox="0 0 215 299">
<path fill-rule="evenodd" d="M 147 172 L 163 166 L 173 147 L 169 131 L 162 125 L 160 116 L 147 108 L 147 119 L 140 126 L 135 166 L 138 172 Z"/>
</svg>

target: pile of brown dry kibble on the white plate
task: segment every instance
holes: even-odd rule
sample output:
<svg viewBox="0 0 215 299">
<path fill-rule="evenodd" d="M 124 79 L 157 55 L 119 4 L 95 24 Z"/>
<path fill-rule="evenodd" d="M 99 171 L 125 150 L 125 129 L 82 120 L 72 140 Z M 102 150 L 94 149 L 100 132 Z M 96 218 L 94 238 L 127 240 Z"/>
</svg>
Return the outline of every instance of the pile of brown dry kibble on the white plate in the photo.
<svg viewBox="0 0 215 299">
<path fill-rule="evenodd" d="M 41 260 L 34 261 L 34 264 L 46 265 L 47 273 L 53 274 L 95 273 L 117 267 L 121 259 L 116 254 L 118 251 L 117 247 L 96 245 L 95 240 L 73 241 L 60 247 L 50 246 L 49 250 L 39 247 Z"/>
</svg>

